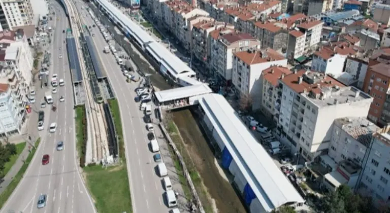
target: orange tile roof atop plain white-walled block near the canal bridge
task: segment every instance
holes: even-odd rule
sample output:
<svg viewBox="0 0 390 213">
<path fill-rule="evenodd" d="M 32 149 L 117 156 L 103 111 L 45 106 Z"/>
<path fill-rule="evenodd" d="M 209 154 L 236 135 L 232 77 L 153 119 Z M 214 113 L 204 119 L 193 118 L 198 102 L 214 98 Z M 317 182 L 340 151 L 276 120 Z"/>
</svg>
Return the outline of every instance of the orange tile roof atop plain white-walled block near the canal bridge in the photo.
<svg viewBox="0 0 390 213">
<path fill-rule="evenodd" d="M 247 65 L 285 59 L 283 55 L 271 48 L 268 48 L 265 52 L 267 55 L 264 55 L 262 51 L 241 51 L 234 53 L 234 55 Z"/>
</svg>

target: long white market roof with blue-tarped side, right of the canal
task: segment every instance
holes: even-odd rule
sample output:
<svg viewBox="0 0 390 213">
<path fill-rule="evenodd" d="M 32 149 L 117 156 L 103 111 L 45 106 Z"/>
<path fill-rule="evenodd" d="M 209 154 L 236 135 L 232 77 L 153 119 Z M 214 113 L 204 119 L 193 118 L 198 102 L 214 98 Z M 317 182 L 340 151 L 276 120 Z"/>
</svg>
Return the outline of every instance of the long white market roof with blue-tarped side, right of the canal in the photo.
<svg viewBox="0 0 390 213">
<path fill-rule="evenodd" d="M 199 102 L 266 211 L 305 202 L 222 95 L 208 94 Z"/>
</svg>

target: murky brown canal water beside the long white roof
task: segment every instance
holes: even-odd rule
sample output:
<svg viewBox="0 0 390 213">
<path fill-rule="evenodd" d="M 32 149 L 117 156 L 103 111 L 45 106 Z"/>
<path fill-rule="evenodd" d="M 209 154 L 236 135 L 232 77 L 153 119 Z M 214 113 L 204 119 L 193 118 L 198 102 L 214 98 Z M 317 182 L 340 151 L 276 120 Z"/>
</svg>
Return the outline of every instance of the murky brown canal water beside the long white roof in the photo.
<svg viewBox="0 0 390 213">
<path fill-rule="evenodd" d="M 218 212 L 246 212 L 232 185 L 220 175 L 214 154 L 191 112 L 175 112 L 174 121 L 183 138 L 184 147 L 207 189 L 208 193 L 203 193 L 210 194 Z"/>
</svg>

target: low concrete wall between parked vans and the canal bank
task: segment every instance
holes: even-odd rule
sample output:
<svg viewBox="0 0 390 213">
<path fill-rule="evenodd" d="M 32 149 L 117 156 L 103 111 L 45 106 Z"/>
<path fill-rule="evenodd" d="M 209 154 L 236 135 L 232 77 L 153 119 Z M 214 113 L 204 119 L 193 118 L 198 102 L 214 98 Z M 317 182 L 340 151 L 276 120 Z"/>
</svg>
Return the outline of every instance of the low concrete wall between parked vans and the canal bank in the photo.
<svg viewBox="0 0 390 213">
<path fill-rule="evenodd" d="M 183 168 L 184 177 L 187 180 L 189 188 L 191 189 L 192 197 L 195 200 L 199 211 L 201 213 L 205 213 L 205 209 L 203 208 L 201 199 L 198 196 L 198 192 L 192 183 L 191 176 L 189 175 L 189 172 L 188 172 L 187 166 L 184 163 L 183 157 L 181 156 L 179 150 L 176 148 L 176 145 L 173 143 L 173 141 L 172 141 L 171 137 L 169 136 L 165 127 L 163 125 L 161 125 L 161 123 L 158 124 L 158 126 L 160 127 L 160 129 L 163 132 L 163 134 L 165 135 L 165 137 L 168 139 L 168 144 L 172 147 L 173 151 L 175 152 L 175 155 L 179 159 L 180 165 Z"/>
</svg>

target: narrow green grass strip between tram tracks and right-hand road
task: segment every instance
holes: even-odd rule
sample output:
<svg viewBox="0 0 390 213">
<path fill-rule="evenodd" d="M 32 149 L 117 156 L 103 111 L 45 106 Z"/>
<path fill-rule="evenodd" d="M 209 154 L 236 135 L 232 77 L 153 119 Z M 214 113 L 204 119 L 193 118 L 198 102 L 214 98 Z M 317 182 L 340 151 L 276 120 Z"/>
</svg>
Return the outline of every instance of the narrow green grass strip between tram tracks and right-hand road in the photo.
<svg viewBox="0 0 390 213">
<path fill-rule="evenodd" d="M 109 99 L 108 104 L 110 105 L 112 119 L 114 120 L 116 134 L 118 135 L 119 157 L 122 159 L 125 159 L 123 130 L 122 130 L 122 121 L 120 118 L 119 103 L 118 103 L 117 99 Z M 125 160 L 122 160 L 122 161 L 125 162 Z"/>
</svg>

